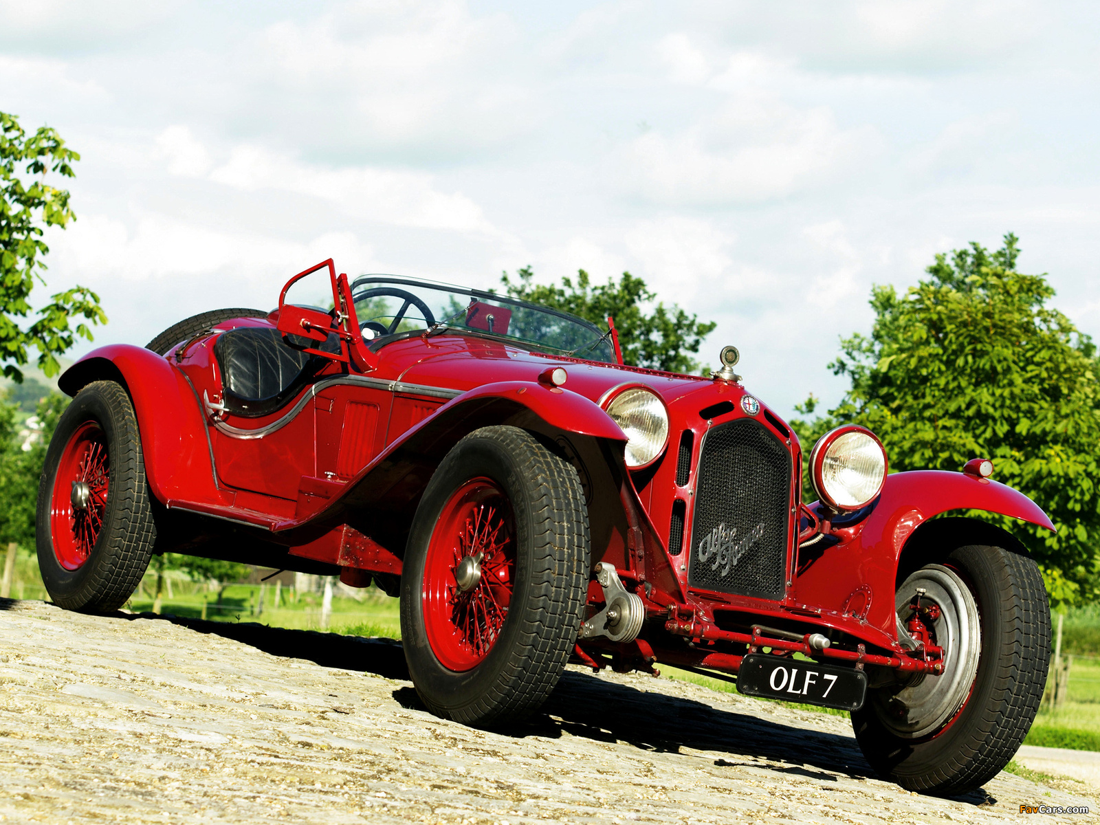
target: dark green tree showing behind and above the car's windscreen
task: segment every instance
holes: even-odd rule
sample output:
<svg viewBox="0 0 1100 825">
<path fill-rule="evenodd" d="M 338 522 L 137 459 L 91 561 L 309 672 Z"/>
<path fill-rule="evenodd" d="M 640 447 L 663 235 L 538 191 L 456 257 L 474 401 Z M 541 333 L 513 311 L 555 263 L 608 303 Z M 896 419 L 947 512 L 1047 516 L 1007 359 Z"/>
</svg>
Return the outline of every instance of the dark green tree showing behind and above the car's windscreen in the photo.
<svg viewBox="0 0 1100 825">
<path fill-rule="evenodd" d="M 624 272 L 620 280 L 608 278 L 606 284 L 593 285 L 588 273 L 579 270 L 575 284 L 570 277 L 557 285 L 536 284 L 530 266 L 518 270 L 516 275 L 516 280 L 507 273 L 501 276 L 505 292 L 513 298 L 572 312 L 602 329 L 606 329 L 608 316 L 614 318 L 626 363 L 678 373 L 703 369 L 692 355 L 718 324 L 700 323 L 698 316 L 689 315 L 675 304 L 667 308 L 659 301 L 652 306 L 657 294 L 641 278 Z M 652 306 L 648 312 L 647 306 Z"/>
</svg>

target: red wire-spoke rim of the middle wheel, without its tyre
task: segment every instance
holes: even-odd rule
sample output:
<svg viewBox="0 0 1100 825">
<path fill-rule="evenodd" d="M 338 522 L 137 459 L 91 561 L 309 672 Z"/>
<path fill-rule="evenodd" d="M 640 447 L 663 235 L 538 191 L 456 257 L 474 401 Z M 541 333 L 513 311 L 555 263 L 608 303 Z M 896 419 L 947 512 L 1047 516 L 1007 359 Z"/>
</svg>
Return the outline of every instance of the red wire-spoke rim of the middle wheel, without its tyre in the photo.
<svg viewBox="0 0 1100 825">
<path fill-rule="evenodd" d="M 463 484 L 443 506 L 428 544 L 424 612 L 436 658 L 470 670 L 501 637 L 516 570 L 514 517 L 490 479 Z"/>
</svg>

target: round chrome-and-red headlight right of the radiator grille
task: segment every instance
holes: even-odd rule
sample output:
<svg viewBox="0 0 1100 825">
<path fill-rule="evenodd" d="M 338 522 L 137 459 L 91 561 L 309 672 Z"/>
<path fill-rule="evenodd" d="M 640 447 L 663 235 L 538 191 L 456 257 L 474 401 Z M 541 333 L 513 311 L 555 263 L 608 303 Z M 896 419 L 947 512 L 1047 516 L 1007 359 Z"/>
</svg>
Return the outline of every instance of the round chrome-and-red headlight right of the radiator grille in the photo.
<svg viewBox="0 0 1100 825">
<path fill-rule="evenodd" d="M 823 504 L 839 512 L 858 510 L 882 492 L 887 451 L 866 427 L 845 425 L 814 444 L 810 472 Z"/>
</svg>

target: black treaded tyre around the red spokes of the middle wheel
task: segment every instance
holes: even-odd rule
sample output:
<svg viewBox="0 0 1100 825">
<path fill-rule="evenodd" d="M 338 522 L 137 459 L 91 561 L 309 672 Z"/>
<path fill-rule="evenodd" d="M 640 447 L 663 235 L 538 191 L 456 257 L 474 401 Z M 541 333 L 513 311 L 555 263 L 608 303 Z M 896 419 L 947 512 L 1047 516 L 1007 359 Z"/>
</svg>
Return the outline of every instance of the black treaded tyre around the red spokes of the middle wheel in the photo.
<svg viewBox="0 0 1100 825">
<path fill-rule="evenodd" d="M 441 536 L 446 527 L 440 525 L 450 524 L 442 517 L 451 512 L 455 496 L 479 479 L 496 485 L 514 515 L 506 528 L 512 543 L 505 544 L 514 553 L 514 590 L 503 625 L 487 652 L 481 653 L 484 658 L 469 669 L 454 670 L 440 661 L 429 639 L 427 622 L 436 622 L 435 631 L 440 630 L 438 618 L 432 619 L 439 614 L 432 613 L 427 595 L 432 580 L 426 579 L 426 570 L 438 570 L 428 568 L 433 537 L 449 540 Z M 485 505 L 481 507 L 484 513 Z M 488 513 L 486 525 L 492 507 Z M 405 658 L 413 683 L 432 713 L 466 725 L 502 727 L 542 705 L 576 642 L 587 592 L 588 546 L 588 516 L 576 470 L 530 433 L 515 427 L 485 427 L 451 449 L 417 508 L 402 575 Z M 493 585 L 497 583 L 488 576 L 494 574 L 485 568 L 485 581 Z M 471 595 L 481 593 L 481 586 L 479 581 Z M 460 630 L 453 632 L 455 639 L 461 636 Z"/>
</svg>

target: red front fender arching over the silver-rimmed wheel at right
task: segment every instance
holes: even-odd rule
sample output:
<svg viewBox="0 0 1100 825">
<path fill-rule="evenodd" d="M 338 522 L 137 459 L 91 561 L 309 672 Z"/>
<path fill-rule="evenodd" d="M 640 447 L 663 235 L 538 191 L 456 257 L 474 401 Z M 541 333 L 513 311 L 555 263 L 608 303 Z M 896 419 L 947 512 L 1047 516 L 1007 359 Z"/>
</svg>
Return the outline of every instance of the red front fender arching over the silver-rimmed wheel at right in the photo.
<svg viewBox="0 0 1100 825">
<path fill-rule="evenodd" d="M 853 537 L 823 551 L 800 550 L 794 596 L 826 615 L 846 614 L 897 640 L 894 587 L 905 541 L 921 524 L 942 513 L 977 509 L 1054 525 L 1023 493 L 987 479 L 941 470 L 887 477 L 875 509 Z"/>
</svg>

